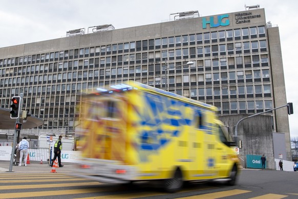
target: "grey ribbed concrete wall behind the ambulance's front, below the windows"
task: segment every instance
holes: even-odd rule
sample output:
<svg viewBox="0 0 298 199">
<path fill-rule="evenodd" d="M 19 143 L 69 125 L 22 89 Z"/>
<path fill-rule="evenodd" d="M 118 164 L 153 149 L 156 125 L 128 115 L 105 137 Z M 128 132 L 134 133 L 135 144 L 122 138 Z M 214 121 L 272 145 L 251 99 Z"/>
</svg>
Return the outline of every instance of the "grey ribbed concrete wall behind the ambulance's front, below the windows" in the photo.
<svg viewBox="0 0 298 199">
<path fill-rule="evenodd" d="M 235 126 L 242 118 L 248 115 L 220 116 L 220 120 L 229 127 L 234 135 Z M 246 155 L 263 155 L 267 158 L 267 168 L 275 169 L 272 122 L 270 115 L 257 115 L 238 124 L 238 140 L 242 141 L 240 157 L 246 168 Z"/>
</svg>

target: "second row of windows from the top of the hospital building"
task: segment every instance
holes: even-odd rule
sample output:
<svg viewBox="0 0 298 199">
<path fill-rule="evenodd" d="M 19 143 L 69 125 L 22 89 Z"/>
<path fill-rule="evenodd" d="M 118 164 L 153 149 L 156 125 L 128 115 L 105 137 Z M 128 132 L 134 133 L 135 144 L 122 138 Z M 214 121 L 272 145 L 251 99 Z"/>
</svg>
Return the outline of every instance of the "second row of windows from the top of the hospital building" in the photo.
<svg viewBox="0 0 298 199">
<path fill-rule="evenodd" d="M 204 46 L 197 48 L 183 48 L 183 49 L 173 49 L 173 50 L 162 50 L 154 51 L 154 52 L 143 52 L 143 53 L 133 53 L 133 54 L 125 54 L 125 55 L 115 55 L 115 56 L 106 56 L 106 57 L 98 57 L 98 58 L 89 58 L 89 59 L 80 59 L 71 62 L 56 62 L 50 63 L 50 68 L 53 69 L 63 69 L 68 68 L 70 63 L 72 63 L 73 67 L 77 66 L 110 66 L 111 64 L 117 65 L 127 65 L 127 64 L 135 64 L 135 63 L 147 63 L 147 62 L 155 62 L 165 60 L 175 60 L 175 59 L 185 59 L 185 58 L 196 58 L 196 57 L 210 57 L 210 56 L 219 56 L 219 55 L 232 55 L 232 54 L 245 54 L 250 52 L 265 52 L 267 51 L 266 41 L 254 41 L 254 42 L 244 42 L 235 43 L 235 44 L 223 44 L 223 45 L 212 45 L 212 46 Z M 253 55 L 254 57 L 259 57 L 259 55 Z M 261 55 L 262 56 L 262 55 Z M 256 59 L 256 58 L 253 58 Z M 259 59 L 259 58 L 258 58 Z M 29 63 L 27 63 L 29 64 Z M 35 69 L 32 68 L 35 66 Z M 30 66 L 27 66 L 30 67 Z M 26 72 L 37 71 L 39 68 L 44 68 L 44 65 L 32 65 L 31 69 L 27 68 Z M 6 70 L 5 68 L 2 70 Z M 14 70 L 13 68 L 7 70 Z M 20 69 L 18 69 L 20 70 Z M 23 67 L 23 72 L 25 72 Z M 1 74 L 1 73 L 0 73 Z"/>
</svg>

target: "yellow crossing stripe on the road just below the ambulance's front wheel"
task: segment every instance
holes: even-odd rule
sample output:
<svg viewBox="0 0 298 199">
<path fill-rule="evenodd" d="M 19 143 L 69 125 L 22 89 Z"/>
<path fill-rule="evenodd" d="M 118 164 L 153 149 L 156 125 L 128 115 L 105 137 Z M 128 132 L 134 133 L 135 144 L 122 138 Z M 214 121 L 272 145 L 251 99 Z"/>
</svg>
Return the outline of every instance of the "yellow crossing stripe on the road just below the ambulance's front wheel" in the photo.
<svg viewBox="0 0 298 199">
<path fill-rule="evenodd" d="M 247 190 L 241 190 L 241 189 L 232 189 L 228 191 L 219 191 L 219 192 L 214 192 L 214 193 L 205 193 L 205 194 L 200 194 L 200 195 L 195 195 L 195 196 L 189 196 L 189 197 L 180 197 L 180 198 L 208 198 L 208 199 L 215 199 L 215 198 L 221 198 L 221 197 L 227 197 L 227 196 L 232 196 L 232 195 L 238 195 L 238 194 L 243 194 L 243 193 L 248 193 L 251 191 Z"/>
</svg>

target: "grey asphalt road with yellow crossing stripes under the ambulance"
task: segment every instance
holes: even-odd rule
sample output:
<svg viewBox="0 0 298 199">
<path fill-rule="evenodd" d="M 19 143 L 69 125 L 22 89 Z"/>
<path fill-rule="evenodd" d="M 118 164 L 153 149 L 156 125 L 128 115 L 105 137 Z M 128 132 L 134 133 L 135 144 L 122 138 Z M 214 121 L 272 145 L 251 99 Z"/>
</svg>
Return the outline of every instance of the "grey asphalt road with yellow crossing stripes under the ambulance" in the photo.
<svg viewBox="0 0 298 199">
<path fill-rule="evenodd" d="M 57 173 L 45 164 L 2 171 L 0 198 L 298 198 L 298 172 L 293 171 L 243 169 L 236 186 L 197 182 L 166 193 L 148 184 L 119 186 L 76 178 L 70 174 L 72 166 L 57 168 Z"/>
</svg>

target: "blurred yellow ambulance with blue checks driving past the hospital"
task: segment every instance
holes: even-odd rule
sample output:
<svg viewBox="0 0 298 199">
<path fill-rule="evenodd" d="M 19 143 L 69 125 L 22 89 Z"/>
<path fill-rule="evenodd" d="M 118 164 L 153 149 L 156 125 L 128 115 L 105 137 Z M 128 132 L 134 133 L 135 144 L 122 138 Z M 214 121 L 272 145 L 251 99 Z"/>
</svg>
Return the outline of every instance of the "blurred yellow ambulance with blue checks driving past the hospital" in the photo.
<svg viewBox="0 0 298 199">
<path fill-rule="evenodd" d="M 234 185 L 239 158 L 217 108 L 137 82 L 97 89 L 80 106 L 82 158 L 75 175 L 102 183 Z"/>
</svg>

